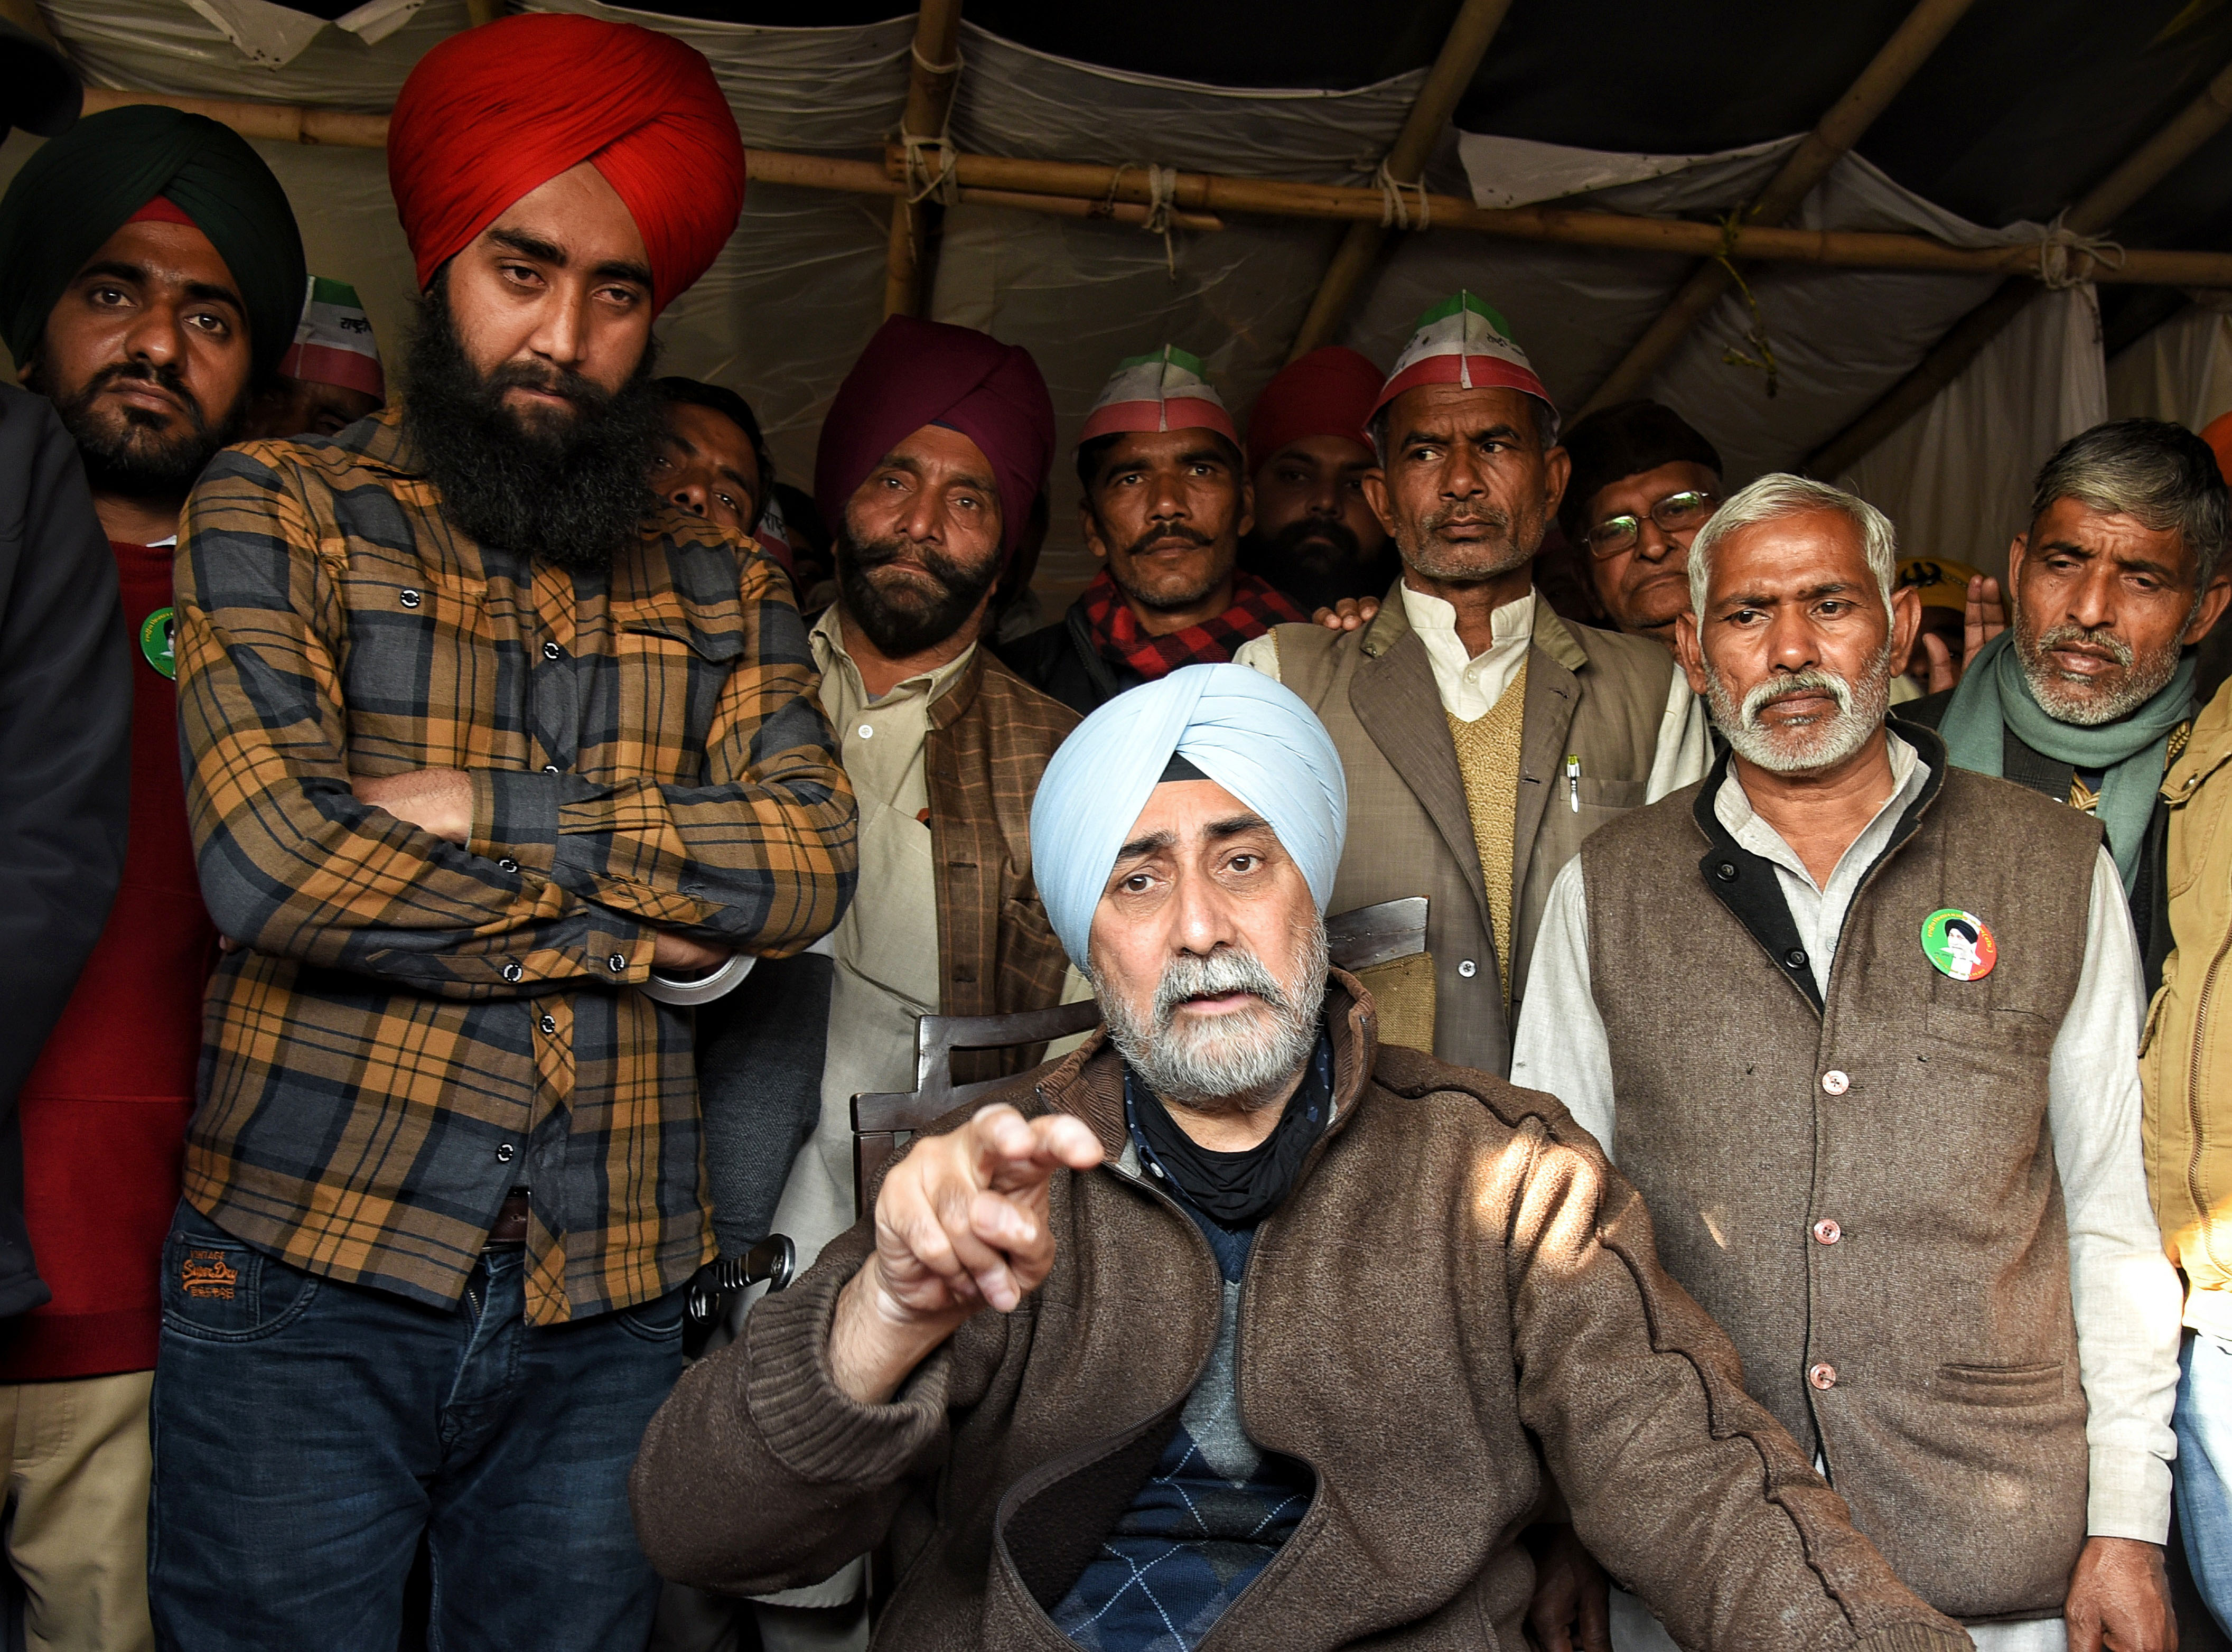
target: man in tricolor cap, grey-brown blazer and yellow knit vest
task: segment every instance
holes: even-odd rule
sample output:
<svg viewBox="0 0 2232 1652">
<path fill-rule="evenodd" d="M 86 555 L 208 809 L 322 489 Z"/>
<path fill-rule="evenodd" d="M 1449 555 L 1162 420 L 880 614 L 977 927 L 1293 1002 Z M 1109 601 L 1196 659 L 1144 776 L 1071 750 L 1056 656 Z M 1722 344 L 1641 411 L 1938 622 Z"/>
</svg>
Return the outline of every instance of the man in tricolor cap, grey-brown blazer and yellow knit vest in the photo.
<svg viewBox="0 0 2232 1652">
<path fill-rule="evenodd" d="M 1348 768 L 1333 911 L 1426 895 L 1433 1049 L 1500 1074 L 1551 880 L 1596 826 L 1705 772 L 1705 710 L 1663 647 L 1538 598 L 1569 464 L 1495 310 L 1460 292 L 1420 317 L 1370 438 L 1364 493 L 1402 580 L 1359 630 L 1281 625 L 1239 661 L 1301 694 Z"/>
</svg>

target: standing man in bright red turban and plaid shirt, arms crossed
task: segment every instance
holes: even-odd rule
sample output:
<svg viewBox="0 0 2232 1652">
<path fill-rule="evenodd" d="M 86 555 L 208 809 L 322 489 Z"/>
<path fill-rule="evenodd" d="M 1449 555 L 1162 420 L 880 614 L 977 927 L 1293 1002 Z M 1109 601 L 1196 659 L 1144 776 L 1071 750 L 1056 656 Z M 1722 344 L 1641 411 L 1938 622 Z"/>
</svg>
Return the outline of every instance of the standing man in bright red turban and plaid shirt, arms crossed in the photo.
<svg viewBox="0 0 2232 1652">
<path fill-rule="evenodd" d="M 654 1614 L 625 1471 L 714 1250 L 687 1005 L 837 922 L 855 808 L 783 576 L 645 487 L 652 317 L 743 199 L 705 58 L 451 36 L 388 179 L 402 406 L 234 449 L 185 513 L 232 947 L 163 1261 L 154 1614 L 187 1652 L 393 1645 L 424 1552 L 429 1643 L 603 1652 Z"/>
</svg>

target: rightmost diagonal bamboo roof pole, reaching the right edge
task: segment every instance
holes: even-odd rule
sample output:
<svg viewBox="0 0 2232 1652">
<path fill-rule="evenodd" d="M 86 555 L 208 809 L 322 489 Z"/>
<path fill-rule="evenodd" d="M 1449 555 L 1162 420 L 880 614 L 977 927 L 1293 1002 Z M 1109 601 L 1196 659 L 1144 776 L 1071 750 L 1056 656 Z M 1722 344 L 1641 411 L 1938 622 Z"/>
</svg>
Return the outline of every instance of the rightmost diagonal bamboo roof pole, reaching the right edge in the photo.
<svg viewBox="0 0 2232 1652">
<path fill-rule="evenodd" d="M 2138 145 L 2132 156 L 2096 183 L 2082 201 L 2069 208 L 2065 223 L 2078 234 L 2098 234 L 2129 212 L 2147 190 L 2167 179 L 2181 161 L 2214 138 L 2232 121 L 2232 63 L 2216 71 L 2201 96 L 2185 105 L 2170 125 Z M 2163 254 L 2154 254 L 2163 257 Z M 2147 259 L 2129 252 L 2125 268 Z M 2094 277 L 2103 279 L 2103 277 Z M 2190 286 L 2214 286 L 2192 281 Z M 1904 380 L 1893 384 L 1866 413 L 1846 424 L 1806 460 L 1810 476 L 1841 476 L 1873 453 L 1893 431 L 1928 406 L 2000 333 L 2022 315 L 2045 288 L 2018 275 L 1998 292 L 1969 310 L 1937 339 L 1928 355 Z"/>
</svg>

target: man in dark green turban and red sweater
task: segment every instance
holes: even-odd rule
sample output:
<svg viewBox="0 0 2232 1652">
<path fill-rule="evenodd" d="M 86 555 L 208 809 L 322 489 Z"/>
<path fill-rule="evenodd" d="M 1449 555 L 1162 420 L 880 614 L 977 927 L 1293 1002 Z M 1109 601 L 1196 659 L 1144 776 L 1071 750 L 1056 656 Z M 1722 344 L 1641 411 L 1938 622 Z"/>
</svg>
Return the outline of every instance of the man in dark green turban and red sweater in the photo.
<svg viewBox="0 0 2232 1652">
<path fill-rule="evenodd" d="M 62 676 L 98 638 L 129 674 L 107 679 L 129 690 L 116 708 L 129 717 L 127 772 L 60 746 L 92 705 L 60 710 L 49 726 L 80 786 L 109 790 L 118 813 L 129 801 L 121 884 L 121 822 L 100 830 L 80 819 L 71 830 L 65 795 L 42 819 L 56 833 L 49 862 L 105 873 L 9 891 L 25 909 L 76 906 L 100 935 L 51 1031 L 11 1056 L 22 1063 L 25 1212 L 54 1299 L 0 1346 L 0 1404 L 27 1451 L 0 1458 L 0 1471 L 18 1487 L 9 1560 L 31 1578 L 40 1645 L 154 1643 L 145 1509 L 156 1272 L 179 1208 L 217 955 L 179 779 L 172 563 L 187 489 L 277 371 L 301 292 L 286 192 L 239 134 L 203 116 L 123 107 L 78 121 L 0 199 L 0 333 L 25 386 L 54 402 L 74 440 L 114 558 L 114 574 L 80 598 L 89 612 L 56 614 L 31 647 Z M 11 721 L 36 714 L 36 703 L 9 699 Z M 4 790 L 18 784 L 9 777 Z M 69 953 L 54 958 L 67 987 Z M 33 1460 L 33 1440 L 60 1444 Z"/>
</svg>

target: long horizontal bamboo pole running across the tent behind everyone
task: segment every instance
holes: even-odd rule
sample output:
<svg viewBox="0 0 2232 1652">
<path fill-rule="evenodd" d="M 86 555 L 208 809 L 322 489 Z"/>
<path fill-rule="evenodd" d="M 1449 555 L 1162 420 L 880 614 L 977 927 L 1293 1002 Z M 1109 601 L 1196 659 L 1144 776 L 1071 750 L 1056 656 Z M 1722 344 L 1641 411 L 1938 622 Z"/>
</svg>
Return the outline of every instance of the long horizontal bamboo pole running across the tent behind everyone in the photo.
<svg viewBox="0 0 2232 1652">
<path fill-rule="evenodd" d="M 161 103 L 223 121 L 252 138 L 279 143 L 333 143 L 377 150 L 386 143 L 384 114 L 346 114 L 337 109 L 299 109 L 277 103 L 223 103 L 214 98 L 181 98 L 158 92 L 103 92 L 87 87 L 85 109 L 114 109 L 123 103 Z M 835 190 L 841 194 L 899 196 L 906 192 L 906 167 L 897 147 L 884 163 L 850 161 L 824 154 L 788 154 L 783 150 L 745 150 L 745 170 L 759 183 L 783 183 L 801 190 Z M 1018 161 L 991 154 L 955 154 L 953 176 L 969 201 L 991 192 L 995 205 L 1013 205 L 1058 217 L 1103 217 L 1085 208 L 1141 208 L 1143 221 L 1152 205 L 1152 188 L 1138 165 L 1089 165 L 1078 161 Z M 984 196 L 980 196 L 984 199 Z M 2038 268 L 2038 248 L 1953 248 L 1920 234 L 1882 234 L 1873 230 L 1772 230 L 1745 225 L 1734 232 L 1719 223 L 1687 219 L 1641 219 L 1623 212 L 1574 212 L 1565 208 L 1480 208 L 1457 196 L 1431 196 L 1435 230 L 1475 230 L 1516 241 L 1551 241 L 1560 246 L 1596 246 L 1627 252 L 1683 252 L 1707 257 L 1719 252 L 1723 237 L 1734 257 L 1783 263 L 1815 263 L 1853 270 L 1928 270 L 1942 275 L 2015 275 Z M 1379 221 L 1379 190 L 1353 190 L 1335 183 L 1281 183 L 1272 179 L 1232 179 L 1212 172 L 1178 172 L 1172 205 L 1183 214 L 1174 223 L 1187 228 L 1221 228 L 1223 214 L 1241 212 L 1270 219 Z M 2120 268 L 2096 268 L 2096 281 L 2152 281 L 2170 286 L 2232 288 L 2232 252 L 2156 252 L 2134 250 Z"/>
</svg>

